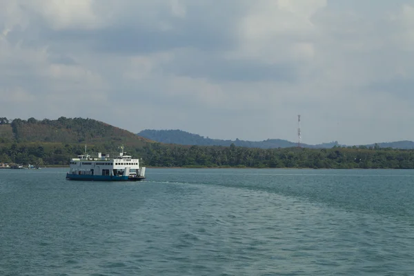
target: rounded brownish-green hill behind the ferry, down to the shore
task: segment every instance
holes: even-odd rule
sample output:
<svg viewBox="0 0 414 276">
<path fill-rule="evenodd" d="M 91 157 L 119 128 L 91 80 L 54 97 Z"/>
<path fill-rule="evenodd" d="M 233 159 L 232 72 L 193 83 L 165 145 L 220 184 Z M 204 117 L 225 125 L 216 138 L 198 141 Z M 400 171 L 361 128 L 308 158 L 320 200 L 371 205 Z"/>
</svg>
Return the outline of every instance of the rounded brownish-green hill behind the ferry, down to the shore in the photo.
<svg viewBox="0 0 414 276">
<path fill-rule="evenodd" d="M 0 118 L 0 163 L 67 165 L 88 145 L 90 152 L 117 152 L 121 145 L 139 156 L 153 142 L 94 119 Z"/>
</svg>

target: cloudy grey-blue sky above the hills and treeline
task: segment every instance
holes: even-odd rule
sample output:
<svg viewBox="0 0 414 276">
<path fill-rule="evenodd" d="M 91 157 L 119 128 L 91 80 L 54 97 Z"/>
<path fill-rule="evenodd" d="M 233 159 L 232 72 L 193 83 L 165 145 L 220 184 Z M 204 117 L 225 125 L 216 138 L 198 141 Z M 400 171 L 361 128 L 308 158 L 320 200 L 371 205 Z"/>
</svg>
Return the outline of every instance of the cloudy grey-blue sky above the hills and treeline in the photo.
<svg viewBox="0 0 414 276">
<path fill-rule="evenodd" d="M 0 117 L 414 140 L 414 0 L 0 0 Z"/>
</svg>

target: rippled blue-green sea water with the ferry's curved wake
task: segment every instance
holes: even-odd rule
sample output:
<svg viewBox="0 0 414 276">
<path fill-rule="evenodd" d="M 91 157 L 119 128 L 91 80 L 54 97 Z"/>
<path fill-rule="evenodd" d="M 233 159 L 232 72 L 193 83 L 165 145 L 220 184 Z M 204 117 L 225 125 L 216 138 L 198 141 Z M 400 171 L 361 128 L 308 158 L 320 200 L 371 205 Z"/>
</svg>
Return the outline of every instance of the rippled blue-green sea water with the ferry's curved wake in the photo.
<svg viewBox="0 0 414 276">
<path fill-rule="evenodd" d="M 413 170 L 0 170 L 0 275 L 414 275 Z"/>
</svg>

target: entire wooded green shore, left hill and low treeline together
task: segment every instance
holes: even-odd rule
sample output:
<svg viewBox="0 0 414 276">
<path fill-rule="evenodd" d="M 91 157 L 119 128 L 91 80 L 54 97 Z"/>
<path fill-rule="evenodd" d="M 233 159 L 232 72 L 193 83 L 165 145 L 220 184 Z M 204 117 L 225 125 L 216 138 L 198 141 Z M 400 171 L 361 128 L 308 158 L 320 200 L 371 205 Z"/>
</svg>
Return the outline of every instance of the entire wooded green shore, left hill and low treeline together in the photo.
<svg viewBox="0 0 414 276">
<path fill-rule="evenodd" d="M 0 163 L 67 166 L 84 151 L 128 153 L 144 166 L 177 168 L 394 168 L 413 169 L 414 150 L 375 145 L 333 148 L 245 148 L 162 144 L 93 119 L 30 118 L 0 124 Z"/>
</svg>

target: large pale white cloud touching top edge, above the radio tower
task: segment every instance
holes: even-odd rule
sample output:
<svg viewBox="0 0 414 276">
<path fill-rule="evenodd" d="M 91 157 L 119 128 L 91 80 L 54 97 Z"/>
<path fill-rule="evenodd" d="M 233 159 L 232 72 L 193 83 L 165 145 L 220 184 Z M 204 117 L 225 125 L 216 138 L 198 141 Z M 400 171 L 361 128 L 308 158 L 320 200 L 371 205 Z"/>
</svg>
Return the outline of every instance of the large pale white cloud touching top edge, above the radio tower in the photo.
<svg viewBox="0 0 414 276">
<path fill-rule="evenodd" d="M 318 33 L 311 17 L 326 6 L 326 1 L 262 0 L 252 3 L 238 30 L 240 47 L 233 54 L 236 58 L 279 63 L 315 55 L 311 39 Z"/>
</svg>

